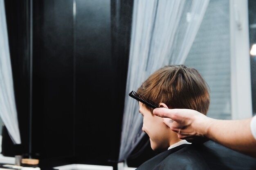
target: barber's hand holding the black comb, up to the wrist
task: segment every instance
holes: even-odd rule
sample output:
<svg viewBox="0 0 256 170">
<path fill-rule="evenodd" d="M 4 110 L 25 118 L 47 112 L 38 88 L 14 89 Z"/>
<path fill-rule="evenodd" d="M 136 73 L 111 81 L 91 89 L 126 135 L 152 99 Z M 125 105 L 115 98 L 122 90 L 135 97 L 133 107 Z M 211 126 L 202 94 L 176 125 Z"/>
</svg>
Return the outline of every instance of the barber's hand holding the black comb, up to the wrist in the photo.
<svg viewBox="0 0 256 170">
<path fill-rule="evenodd" d="M 177 132 L 180 139 L 193 143 L 203 143 L 210 125 L 210 118 L 190 109 L 156 108 L 153 114 L 164 118 L 164 123 Z"/>
</svg>

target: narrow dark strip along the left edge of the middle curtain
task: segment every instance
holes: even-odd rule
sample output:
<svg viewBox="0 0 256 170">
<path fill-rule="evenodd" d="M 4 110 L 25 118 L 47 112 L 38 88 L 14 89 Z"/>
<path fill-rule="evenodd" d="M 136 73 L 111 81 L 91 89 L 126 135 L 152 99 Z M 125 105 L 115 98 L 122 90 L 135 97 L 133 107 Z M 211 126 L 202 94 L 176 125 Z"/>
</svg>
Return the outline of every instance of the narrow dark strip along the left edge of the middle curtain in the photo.
<svg viewBox="0 0 256 170">
<path fill-rule="evenodd" d="M 121 125 L 124 112 L 124 98 L 130 51 L 130 34 L 132 22 L 133 1 L 111 0 L 111 38 L 112 63 L 116 74 L 114 95 L 115 101 L 115 139 L 111 143 L 111 159 L 118 160 L 121 143 Z"/>
</svg>

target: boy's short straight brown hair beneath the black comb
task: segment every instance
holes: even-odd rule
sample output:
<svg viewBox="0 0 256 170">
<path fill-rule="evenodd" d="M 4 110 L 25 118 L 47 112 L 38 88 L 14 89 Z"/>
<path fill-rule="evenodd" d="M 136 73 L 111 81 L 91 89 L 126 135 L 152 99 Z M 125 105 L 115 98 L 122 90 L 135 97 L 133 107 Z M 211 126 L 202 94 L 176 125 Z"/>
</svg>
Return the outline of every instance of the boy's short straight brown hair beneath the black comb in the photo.
<svg viewBox="0 0 256 170">
<path fill-rule="evenodd" d="M 207 114 L 210 104 L 208 85 L 194 68 L 168 65 L 142 83 L 139 94 L 172 109 L 193 109 Z M 144 105 L 153 114 L 153 109 Z"/>
</svg>

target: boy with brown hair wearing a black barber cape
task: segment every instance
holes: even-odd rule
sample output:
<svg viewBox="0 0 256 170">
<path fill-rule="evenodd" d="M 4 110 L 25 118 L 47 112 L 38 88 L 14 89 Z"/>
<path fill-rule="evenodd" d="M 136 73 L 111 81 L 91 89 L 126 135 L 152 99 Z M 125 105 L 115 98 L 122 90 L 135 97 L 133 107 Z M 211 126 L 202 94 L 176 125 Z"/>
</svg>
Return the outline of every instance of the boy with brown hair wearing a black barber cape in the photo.
<svg viewBox="0 0 256 170">
<path fill-rule="evenodd" d="M 137 93 L 169 109 L 193 109 L 203 114 L 207 114 L 209 109 L 207 83 L 196 69 L 184 65 L 170 65 L 157 70 L 142 83 Z M 220 157 L 215 151 L 223 148 L 216 147 L 216 143 L 213 146 L 211 143 L 209 146 L 188 143 L 179 139 L 177 133 L 163 122 L 163 118 L 154 116 L 151 107 L 139 102 L 139 112 L 143 115 L 142 130 L 148 134 L 151 148 L 165 151 L 143 163 L 137 170 L 230 168 L 225 164 L 217 163 L 216 166 L 216 159 L 220 160 L 226 154 L 229 157 L 230 154 L 222 152 Z"/>
</svg>

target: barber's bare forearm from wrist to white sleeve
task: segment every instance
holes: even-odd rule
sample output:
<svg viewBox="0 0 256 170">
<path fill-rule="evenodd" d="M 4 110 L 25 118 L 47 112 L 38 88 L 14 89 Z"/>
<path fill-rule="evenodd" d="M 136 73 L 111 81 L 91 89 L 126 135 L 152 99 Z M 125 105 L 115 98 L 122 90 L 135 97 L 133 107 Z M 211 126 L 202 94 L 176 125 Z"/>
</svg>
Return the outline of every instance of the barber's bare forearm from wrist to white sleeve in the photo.
<svg viewBox="0 0 256 170">
<path fill-rule="evenodd" d="M 250 129 L 251 119 L 210 119 L 205 125 L 205 136 L 228 148 L 256 157 L 256 140 Z"/>
</svg>

